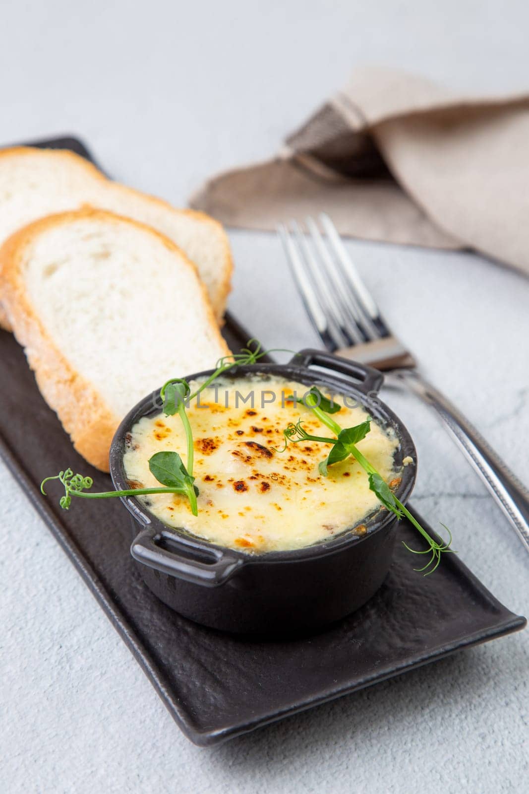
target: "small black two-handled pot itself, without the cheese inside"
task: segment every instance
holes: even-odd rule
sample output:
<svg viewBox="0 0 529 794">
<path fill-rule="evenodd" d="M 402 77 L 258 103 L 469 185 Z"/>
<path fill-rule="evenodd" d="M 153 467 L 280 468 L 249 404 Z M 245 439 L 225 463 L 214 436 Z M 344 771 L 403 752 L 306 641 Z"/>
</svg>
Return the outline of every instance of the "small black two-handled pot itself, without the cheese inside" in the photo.
<svg viewBox="0 0 529 794">
<path fill-rule="evenodd" d="M 397 467 L 408 455 L 415 463 L 416 450 L 408 431 L 377 397 L 383 380 L 377 370 L 329 353 L 302 350 L 289 364 L 237 367 L 223 378 L 253 372 L 351 396 L 378 422 L 393 426 L 400 441 Z M 110 474 L 117 490 L 128 488 L 123 468 L 125 435 L 140 418 L 159 410 L 159 403 L 149 395 L 121 422 L 110 449 Z M 396 491 L 402 502 L 412 491 L 415 475 L 416 465 L 404 467 Z M 122 501 L 141 527 L 137 534 L 134 530 L 131 553 L 148 587 L 186 618 L 220 630 L 267 635 L 316 630 L 366 603 L 391 565 L 397 519 L 384 509 L 362 522 L 369 531 L 361 538 L 346 531 L 304 549 L 250 555 L 178 532 L 149 514 L 138 499 Z"/>
</svg>

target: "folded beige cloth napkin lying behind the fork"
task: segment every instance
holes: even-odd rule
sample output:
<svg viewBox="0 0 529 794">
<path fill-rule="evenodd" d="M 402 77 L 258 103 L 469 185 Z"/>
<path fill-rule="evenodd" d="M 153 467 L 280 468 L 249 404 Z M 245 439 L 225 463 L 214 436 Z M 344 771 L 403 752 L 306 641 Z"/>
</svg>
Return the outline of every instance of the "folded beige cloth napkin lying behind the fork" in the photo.
<svg viewBox="0 0 529 794">
<path fill-rule="evenodd" d="M 529 272 L 529 94 L 362 69 L 273 160 L 213 177 L 190 203 L 248 229 L 324 210 L 345 235 L 470 247 Z"/>
</svg>

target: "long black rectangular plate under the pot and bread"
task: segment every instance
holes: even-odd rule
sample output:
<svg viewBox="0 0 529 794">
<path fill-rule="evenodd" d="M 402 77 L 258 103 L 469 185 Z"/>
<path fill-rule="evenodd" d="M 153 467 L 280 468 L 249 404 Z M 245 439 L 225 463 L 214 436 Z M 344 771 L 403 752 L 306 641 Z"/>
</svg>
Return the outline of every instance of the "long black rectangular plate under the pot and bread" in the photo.
<svg viewBox="0 0 529 794">
<path fill-rule="evenodd" d="M 88 156 L 73 138 L 40 142 Z M 248 334 L 228 317 L 232 350 Z M 118 500 L 62 511 L 44 499 L 44 476 L 70 466 L 111 488 L 72 449 L 40 396 L 24 353 L 0 332 L 0 453 L 144 669 L 178 726 L 214 745 L 326 700 L 375 684 L 449 653 L 523 628 L 459 557 L 447 555 L 426 580 L 397 544 L 393 567 L 360 611 L 310 638 L 256 641 L 197 626 L 155 598 L 129 554 L 128 513 Z M 50 489 L 52 490 L 52 488 Z M 424 522 L 423 522 L 424 523 Z M 401 523 L 401 539 L 416 531 Z M 421 604 L 427 600 L 428 610 Z"/>
</svg>

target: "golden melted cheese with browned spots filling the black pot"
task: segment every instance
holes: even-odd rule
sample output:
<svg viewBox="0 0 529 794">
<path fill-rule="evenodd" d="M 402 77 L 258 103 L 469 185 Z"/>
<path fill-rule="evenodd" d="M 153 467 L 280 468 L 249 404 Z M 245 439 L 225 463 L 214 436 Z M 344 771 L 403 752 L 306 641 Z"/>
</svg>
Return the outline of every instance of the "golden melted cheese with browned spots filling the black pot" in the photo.
<svg viewBox="0 0 529 794">
<path fill-rule="evenodd" d="M 192 390 L 196 387 L 191 384 Z M 353 527 L 357 534 L 365 533 L 362 520 L 379 503 L 366 473 L 352 457 L 333 465 L 329 476 L 322 477 L 318 463 L 330 444 L 301 441 L 290 443 L 284 452 L 276 451 L 284 446 L 283 430 L 300 418 L 309 434 L 332 435 L 302 403 L 296 407 L 286 403 L 289 395 L 295 392 L 301 399 L 305 391 L 302 384 L 270 376 L 217 381 L 187 411 L 194 434 L 198 515 L 191 514 L 181 495 L 140 496 L 140 501 L 168 526 L 250 553 L 300 549 Z M 246 403 L 237 392 L 247 398 Z M 339 395 L 335 399 L 342 405 L 333 416 L 340 426 L 366 419 L 362 407 L 347 407 Z M 397 446 L 393 430 L 375 422 L 358 444 L 384 479 L 394 480 L 392 485 L 398 482 L 393 468 Z M 148 460 L 163 450 L 180 453 L 186 463 L 186 437 L 178 414 L 142 418 L 132 427 L 124 457 L 132 487 L 159 486 Z"/>
</svg>

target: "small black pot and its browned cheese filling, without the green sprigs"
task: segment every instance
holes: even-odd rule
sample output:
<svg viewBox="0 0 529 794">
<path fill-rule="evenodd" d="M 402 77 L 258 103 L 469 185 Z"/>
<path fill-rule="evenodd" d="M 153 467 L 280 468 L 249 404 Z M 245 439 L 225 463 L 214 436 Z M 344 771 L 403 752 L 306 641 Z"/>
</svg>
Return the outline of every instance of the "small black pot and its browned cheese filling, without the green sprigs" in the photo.
<svg viewBox="0 0 529 794">
<path fill-rule="evenodd" d="M 202 383 L 210 375 L 202 372 L 189 380 Z M 400 420 L 378 400 L 381 375 L 309 350 L 286 365 L 237 366 L 224 373 L 221 383 L 222 403 L 212 403 L 203 391 L 207 407 L 195 406 L 189 414 L 197 422 L 197 516 L 182 495 L 165 494 L 158 503 L 158 495 L 123 497 L 142 527 L 131 550 L 144 580 L 182 615 L 222 630 L 284 634 L 348 615 L 387 575 L 397 516 L 381 507 L 366 486 L 365 472 L 352 460 L 337 464 L 322 483 L 318 462 L 331 445 L 286 444 L 282 427 L 292 428 L 300 416 L 305 431 L 318 427 L 309 410 L 289 402 L 295 386 L 301 395 L 316 384 L 348 399 L 351 407 L 340 407 L 334 415 L 343 411 L 346 423 L 357 425 L 368 415 L 373 418 L 373 437 L 365 438 L 362 449 L 404 502 L 415 481 L 416 451 Z M 248 385 L 258 395 L 259 409 L 240 405 L 223 410 L 226 393 L 234 398 L 235 390 L 244 394 Z M 277 388 L 277 401 L 261 408 L 262 393 Z M 178 449 L 185 449 L 175 418 L 161 414 L 153 395 L 128 414 L 110 451 L 117 491 L 155 484 L 145 461 L 156 444 L 171 445 L 174 435 Z M 324 507 L 327 499 L 330 504 Z"/>
</svg>

